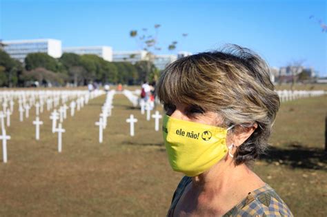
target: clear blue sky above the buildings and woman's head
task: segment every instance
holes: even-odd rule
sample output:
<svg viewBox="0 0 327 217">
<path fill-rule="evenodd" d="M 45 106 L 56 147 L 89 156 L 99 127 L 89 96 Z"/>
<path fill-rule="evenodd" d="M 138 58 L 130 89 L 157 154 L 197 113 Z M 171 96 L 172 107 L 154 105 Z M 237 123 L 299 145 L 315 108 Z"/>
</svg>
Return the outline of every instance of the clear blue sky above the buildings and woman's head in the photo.
<svg viewBox="0 0 327 217">
<path fill-rule="evenodd" d="M 270 66 L 304 60 L 327 76 L 327 1 L 8 1 L 0 0 L 0 39 L 59 39 L 63 47 L 109 45 L 139 50 L 130 30 L 160 24 L 161 54 L 178 41 L 192 53 L 236 43 L 258 52 Z M 309 19 L 314 15 L 313 19 Z M 188 37 L 181 34 L 188 33 Z"/>
</svg>

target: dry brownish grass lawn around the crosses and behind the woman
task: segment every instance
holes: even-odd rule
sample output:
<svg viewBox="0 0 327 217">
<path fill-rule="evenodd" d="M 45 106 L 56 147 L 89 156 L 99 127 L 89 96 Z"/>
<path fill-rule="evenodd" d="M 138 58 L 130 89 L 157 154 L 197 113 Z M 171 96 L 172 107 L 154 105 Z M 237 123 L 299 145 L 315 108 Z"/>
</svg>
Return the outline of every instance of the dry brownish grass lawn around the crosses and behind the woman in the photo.
<svg viewBox="0 0 327 217">
<path fill-rule="evenodd" d="M 161 132 L 117 94 L 99 144 L 95 121 L 104 101 L 91 100 L 63 122 L 61 154 L 50 113 L 41 114 L 41 140 L 35 141 L 34 115 L 20 123 L 15 106 L 8 163 L 0 163 L 0 216 L 166 216 L 181 174 L 168 165 Z M 270 151 L 255 163 L 295 216 L 327 216 L 326 108 L 326 96 L 283 103 Z M 133 138 L 130 114 L 139 120 Z"/>
</svg>

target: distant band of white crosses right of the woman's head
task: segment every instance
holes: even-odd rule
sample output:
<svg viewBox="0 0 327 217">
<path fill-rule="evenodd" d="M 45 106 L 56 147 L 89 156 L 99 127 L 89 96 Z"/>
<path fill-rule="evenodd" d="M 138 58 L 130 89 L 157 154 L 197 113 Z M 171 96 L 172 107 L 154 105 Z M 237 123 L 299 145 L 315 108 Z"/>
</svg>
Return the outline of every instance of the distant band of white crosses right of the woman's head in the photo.
<svg viewBox="0 0 327 217">
<path fill-rule="evenodd" d="M 327 92 L 324 90 L 277 90 L 276 91 L 281 102 L 293 101 L 311 96 L 323 96 Z"/>
</svg>

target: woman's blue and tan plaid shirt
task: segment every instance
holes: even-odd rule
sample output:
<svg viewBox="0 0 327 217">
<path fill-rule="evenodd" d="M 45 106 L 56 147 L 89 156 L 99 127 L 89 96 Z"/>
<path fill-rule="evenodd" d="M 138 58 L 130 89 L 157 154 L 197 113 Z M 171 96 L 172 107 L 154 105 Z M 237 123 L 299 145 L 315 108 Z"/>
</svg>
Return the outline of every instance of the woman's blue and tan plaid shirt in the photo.
<svg viewBox="0 0 327 217">
<path fill-rule="evenodd" d="M 167 214 L 168 217 L 173 216 L 179 198 L 181 198 L 186 185 L 191 181 L 191 178 L 188 176 L 184 176 L 181 179 L 172 197 L 172 203 Z M 286 203 L 276 194 L 275 190 L 266 184 L 264 187 L 250 192 L 241 203 L 230 209 L 223 217 L 229 216 L 293 216 L 293 214 Z"/>
</svg>

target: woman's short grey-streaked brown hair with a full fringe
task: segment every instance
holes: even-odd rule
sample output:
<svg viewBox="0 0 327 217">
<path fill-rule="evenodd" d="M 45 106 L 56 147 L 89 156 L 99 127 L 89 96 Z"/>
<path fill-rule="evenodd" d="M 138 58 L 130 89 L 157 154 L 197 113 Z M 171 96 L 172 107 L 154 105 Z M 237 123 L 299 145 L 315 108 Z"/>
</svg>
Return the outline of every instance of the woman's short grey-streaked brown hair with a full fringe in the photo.
<svg viewBox="0 0 327 217">
<path fill-rule="evenodd" d="M 249 165 L 267 147 L 280 104 L 274 88 L 268 65 L 259 55 L 239 45 L 227 45 L 168 65 L 157 94 L 162 103 L 199 105 L 218 112 L 224 127 L 257 123 L 255 132 L 234 154 L 235 165 Z"/>
</svg>

